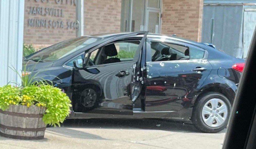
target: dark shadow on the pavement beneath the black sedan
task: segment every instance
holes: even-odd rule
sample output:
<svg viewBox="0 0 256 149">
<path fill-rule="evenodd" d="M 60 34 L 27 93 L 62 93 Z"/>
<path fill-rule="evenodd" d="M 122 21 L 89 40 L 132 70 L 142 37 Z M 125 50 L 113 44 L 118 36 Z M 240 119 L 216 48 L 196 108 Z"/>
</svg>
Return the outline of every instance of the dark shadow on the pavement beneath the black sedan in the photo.
<svg viewBox="0 0 256 149">
<path fill-rule="evenodd" d="M 172 132 L 202 133 L 194 125 L 168 119 L 67 119 L 62 127 L 102 129 L 147 129 Z M 223 133 L 223 130 L 219 133 Z"/>
</svg>

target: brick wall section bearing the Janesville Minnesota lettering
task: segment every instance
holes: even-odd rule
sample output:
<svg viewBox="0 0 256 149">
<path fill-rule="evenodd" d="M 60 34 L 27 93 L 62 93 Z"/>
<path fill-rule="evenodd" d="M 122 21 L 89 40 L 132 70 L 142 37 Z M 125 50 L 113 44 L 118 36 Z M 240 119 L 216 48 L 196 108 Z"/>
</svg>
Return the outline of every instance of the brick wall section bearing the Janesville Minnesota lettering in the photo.
<svg viewBox="0 0 256 149">
<path fill-rule="evenodd" d="M 76 13 L 75 6 L 71 5 L 70 1 L 68 2 L 68 4 L 56 4 L 55 0 L 49 0 L 49 2 L 25 0 L 24 43 L 33 44 L 37 47 L 45 47 L 75 37 L 75 30 L 66 28 L 66 22 L 75 21 Z M 64 13 L 63 17 L 29 14 L 31 7 L 63 9 Z M 46 19 L 47 22 L 49 20 L 63 21 L 65 26 L 63 28 L 29 26 L 29 19 Z"/>
</svg>

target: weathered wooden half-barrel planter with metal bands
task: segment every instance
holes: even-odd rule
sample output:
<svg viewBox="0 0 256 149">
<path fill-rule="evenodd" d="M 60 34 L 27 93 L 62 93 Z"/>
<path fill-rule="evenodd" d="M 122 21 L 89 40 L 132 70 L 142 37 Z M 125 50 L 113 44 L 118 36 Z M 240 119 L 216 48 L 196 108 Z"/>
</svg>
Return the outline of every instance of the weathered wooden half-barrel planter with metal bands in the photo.
<svg viewBox="0 0 256 149">
<path fill-rule="evenodd" d="M 42 120 L 45 107 L 10 105 L 0 110 L 0 135 L 14 139 L 43 139 L 46 125 Z"/>
</svg>

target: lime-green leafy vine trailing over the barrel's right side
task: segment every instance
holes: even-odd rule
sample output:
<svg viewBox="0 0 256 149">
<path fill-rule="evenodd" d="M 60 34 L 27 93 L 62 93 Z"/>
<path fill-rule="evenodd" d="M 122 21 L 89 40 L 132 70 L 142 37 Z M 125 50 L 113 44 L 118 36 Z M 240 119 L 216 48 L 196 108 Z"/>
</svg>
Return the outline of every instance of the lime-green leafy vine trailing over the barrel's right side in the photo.
<svg viewBox="0 0 256 149">
<path fill-rule="evenodd" d="M 43 121 L 46 124 L 58 125 L 69 116 L 71 101 L 66 93 L 52 85 L 27 86 L 23 88 L 21 96 L 31 97 L 32 103 L 36 106 L 45 106 L 46 111 Z"/>
</svg>

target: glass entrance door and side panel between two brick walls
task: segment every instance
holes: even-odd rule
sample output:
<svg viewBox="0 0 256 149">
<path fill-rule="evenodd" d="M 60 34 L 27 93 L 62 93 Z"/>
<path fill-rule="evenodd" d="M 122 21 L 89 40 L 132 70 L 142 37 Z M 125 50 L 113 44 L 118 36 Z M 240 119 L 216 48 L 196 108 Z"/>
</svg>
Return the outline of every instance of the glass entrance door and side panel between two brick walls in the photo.
<svg viewBox="0 0 256 149">
<path fill-rule="evenodd" d="M 162 0 L 122 0 L 121 32 L 160 33 Z"/>
</svg>

